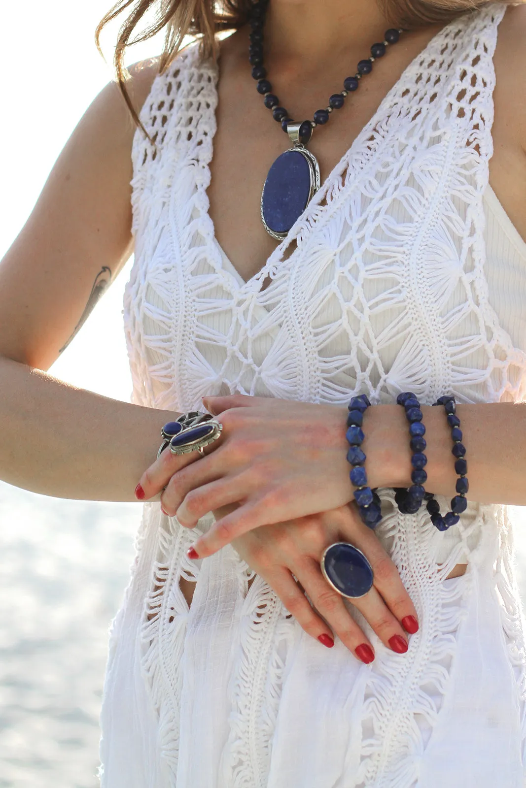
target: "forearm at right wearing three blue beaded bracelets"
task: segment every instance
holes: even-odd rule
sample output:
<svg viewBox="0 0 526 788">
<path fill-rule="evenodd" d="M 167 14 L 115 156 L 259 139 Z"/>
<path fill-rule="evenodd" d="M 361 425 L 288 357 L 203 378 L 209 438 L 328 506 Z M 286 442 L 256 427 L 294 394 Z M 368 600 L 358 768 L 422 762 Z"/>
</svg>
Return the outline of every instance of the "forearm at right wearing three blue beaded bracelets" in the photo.
<svg viewBox="0 0 526 788">
<path fill-rule="evenodd" d="M 455 495 L 450 427 L 443 407 L 422 406 L 427 440 L 425 488 Z M 457 404 L 468 462 L 468 500 L 526 505 L 526 403 Z M 373 486 L 408 487 L 408 422 L 399 405 L 368 408 L 364 418 L 367 475 Z"/>
</svg>

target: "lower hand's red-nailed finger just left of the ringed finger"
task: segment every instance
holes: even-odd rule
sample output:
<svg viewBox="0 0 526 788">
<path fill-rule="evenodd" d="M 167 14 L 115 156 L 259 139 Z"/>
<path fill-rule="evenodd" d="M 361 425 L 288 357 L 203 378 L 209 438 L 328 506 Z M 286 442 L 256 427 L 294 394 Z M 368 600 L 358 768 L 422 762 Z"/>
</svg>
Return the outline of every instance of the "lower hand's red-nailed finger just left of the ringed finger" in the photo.
<svg viewBox="0 0 526 788">
<path fill-rule="evenodd" d="M 294 567 L 294 574 L 311 598 L 315 610 L 323 615 L 343 645 L 353 652 L 358 660 L 366 664 L 372 662 L 375 658 L 375 650 L 371 641 L 345 608 L 341 594 L 326 582 L 319 563 L 306 558 L 298 567 Z"/>
</svg>

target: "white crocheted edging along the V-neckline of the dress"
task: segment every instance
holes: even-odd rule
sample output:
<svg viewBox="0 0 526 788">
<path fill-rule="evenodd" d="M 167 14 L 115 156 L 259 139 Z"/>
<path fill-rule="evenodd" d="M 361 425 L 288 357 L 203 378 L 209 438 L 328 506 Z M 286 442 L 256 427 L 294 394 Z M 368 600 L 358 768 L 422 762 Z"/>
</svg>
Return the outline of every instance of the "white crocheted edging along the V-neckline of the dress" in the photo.
<svg viewBox="0 0 526 788">
<path fill-rule="evenodd" d="M 285 265 L 286 266 L 290 265 L 290 263 L 293 261 L 293 258 L 295 258 L 295 256 L 297 255 L 297 252 L 299 251 L 298 247 L 296 249 L 294 249 L 292 251 L 292 253 L 285 260 L 282 260 L 282 255 L 285 252 L 285 249 L 289 245 L 289 243 L 291 243 L 291 241 L 293 241 L 295 239 L 295 237 L 297 236 L 297 230 L 304 223 L 305 218 L 308 216 L 308 214 L 311 213 L 311 211 L 313 210 L 313 208 L 315 208 L 315 206 L 317 206 L 321 201 L 323 201 L 323 199 L 326 197 L 327 191 L 330 190 L 330 188 L 334 184 L 334 182 L 336 182 L 336 183 L 338 182 L 338 175 L 348 165 L 349 159 L 353 157 L 353 154 L 355 154 L 356 150 L 361 145 L 363 145 L 364 141 L 367 141 L 372 136 L 372 134 L 373 134 L 373 132 L 375 130 L 375 127 L 379 123 L 379 119 L 381 118 L 382 113 L 384 113 L 384 111 L 385 111 L 386 106 L 390 102 L 392 102 L 393 99 L 394 99 L 394 96 L 397 95 L 397 93 L 399 93 L 401 91 L 402 85 L 405 84 L 405 82 L 408 81 L 408 76 L 411 75 L 412 71 L 415 69 L 416 65 L 420 62 L 421 58 L 425 57 L 426 54 L 429 52 L 429 50 L 431 50 L 431 48 L 435 47 L 435 45 L 438 42 L 438 40 L 443 35 L 445 35 L 445 33 L 449 30 L 450 27 L 453 27 L 455 24 L 459 24 L 459 21 L 461 22 L 462 20 L 459 20 L 458 18 L 456 18 L 456 19 L 451 20 L 447 24 L 445 24 L 444 27 L 442 27 L 440 30 L 438 30 L 435 33 L 435 35 L 433 35 L 433 37 L 427 42 L 426 46 L 424 46 L 423 49 L 420 50 L 420 52 L 418 54 L 416 54 L 415 57 L 412 58 L 411 61 L 408 62 L 408 65 L 405 66 L 405 69 L 401 72 L 401 75 L 398 77 L 397 81 L 394 83 L 394 85 L 392 87 L 390 87 L 390 90 L 387 91 L 386 95 L 383 97 L 382 101 L 379 103 L 379 106 L 377 107 L 375 112 L 372 114 L 372 117 L 370 118 L 370 120 L 367 121 L 366 125 L 364 125 L 364 127 L 360 130 L 360 132 L 353 139 L 353 142 L 351 143 L 350 147 L 347 149 L 347 151 L 345 151 L 345 153 L 341 156 L 341 158 L 338 161 L 338 163 L 330 171 L 330 173 L 328 174 L 326 179 L 323 181 L 323 184 L 320 186 L 319 190 L 316 191 L 315 195 L 312 196 L 310 202 L 307 204 L 307 206 L 305 206 L 305 209 L 302 212 L 302 214 L 300 214 L 300 216 L 297 217 L 297 220 L 294 222 L 293 226 L 291 227 L 291 229 L 287 233 L 287 236 L 285 236 L 285 238 L 282 240 L 282 242 L 278 244 L 278 246 L 274 249 L 274 251 L 271 252 L 269 257 L 267 258 L 267 261 L 259 269 L 259 271 L 257 271 L 252 277 L 250 277 L 246 281 L 243 279 L 243 277 L 241 277 L 241 273 L 239 273 L 239 271 L 237 270 L 236 266 L 233 265 L 233 262 L 230 260 L 229 256 L 226 254 L 226 251 L 223 249 L 221 244 L 218 242 L 218 239 L 217 239 L 217 236 L 216 236 L 216 233 L 215 233 L 214 221 L 213 221 L 213 219 L 212 219 L 212 217 L 210 215 L 210 199 L 208 198 L 208 195 L 207 195 L 207 188 L 208 188 L 208 185 L 211 182 L 211 169 L 210 168 L 211 168 L 212 159 L 214 157 L 214 140 L 215 140 L 215 134 L 216 134 L 216 131 L 217 131 L 217 121 L 216 121 L 216 117 L 217 116 L 216 116 L 216 113 L 217 113 L 217 108 L 218 108 L 218 77 L 219 77 L 218 61 L 219 61 L 219 58 L 220 58 L 220 54 L 218 56 L 218 60 L 216 62 L 212 62 L 211 63 L 211 69 L 212 69 L 212 72 L 213 72 L 213 80 L 212 80 L 212 83 L 211 83 L 211 90 L 214 91 L 213 98 L 215 100 L 213 102 L 211 102 L 210 108 L 207 109 L 207 112 L 211 113 L 212 133 L 210 134 L 210 142 L 209 142 L 209 145 L 207 146 L 207 155 L 206 156 L 205 156 L 205 152 L 203 151 L 202 165 L 203 165 L 203 170 L 204 170 L 204 173 L 205 173 L 205 177 L 204 177 L 203 180 L 200 181 L 200 188 L 203 189 L 203 192 L 204 192 L 203 198 L 204 198 L 204 203 L 205 203 L 205 206 L 206 206 L 205 221 L 207 221 L 208 224 L 209 224 L 210 237 L 211 237 L 212 243 L 215 246 L 216 251 L 218 252 L 218 255 L 219 255 L 220 259 L 221 259 L 222 269 L 225 269 L 224 263 L 228 262 L 227 269 L 229 269 L 229 273 L 237 280 L 238 292 L 251 292 L 251 291 L 267 292 L 271 288 L 271 286 L 272 286 L 272 284 L 274 282 L 274 279 L 272 277 L 270 278 L 270 283 L 268 284 L 267 288 L 265 288 L 264 290 L 260 289 L 260 282 L 263 282 L 263 281 L 265 281 L 265 279 L 267 279 L 267 277 L 269 276 L 269 270 L 271 269 L 271 267 L 275 266 L 276 263 L 278 263 L 278 262 L 281 262 L 283 267 L 285 267 Z M 333 201 L 334 201 L 334 198 L 331 198 L 330 200 L 327 200 L 326 205 L 323 206 L 322 210 L 330 210 L 330 204 Z M 256 287 L 256 285 L 259 285 L 259 286 Z"/>
</svg>

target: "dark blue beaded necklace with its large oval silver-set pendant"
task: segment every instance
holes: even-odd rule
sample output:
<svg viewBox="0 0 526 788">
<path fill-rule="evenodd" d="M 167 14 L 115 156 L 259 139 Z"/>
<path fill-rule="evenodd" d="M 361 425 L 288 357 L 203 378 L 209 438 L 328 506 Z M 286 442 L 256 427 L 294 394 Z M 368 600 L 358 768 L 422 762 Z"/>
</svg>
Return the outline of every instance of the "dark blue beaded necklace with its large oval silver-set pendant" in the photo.
<svg viewBox="0 0 526 788">
<path fill-rule="evenodd" d="M 261 219 L 263 226 L 273 238 L 283 240 L 294 222 L 303 214 L 312 195 L 319 189 L 319 164 L 311 151 L 305 147 L 316 126 L 323 126 L 333 110 L 341 110 L 345 97 L 356 91 L 364 74 L 370 74 L 372 64 L 386 54 L 387 46 L 397 43 L 403 30 L 390 28 L 384 40 L 371 46 L 371 57 L 360 60 L 356 74 L 348 76 L 343 90 L 330 96 L 325 110 L 316 110 L 312 121 L 293 121 L 284 106 L 279 106 L 277 95 L 267 80 L 267 69 L 263 66 L 263 26 L 269 0 L 256 0 L 249 12 L 250 46 L 248 60 L 252 65 L 252 76 L 257 80 L 257 91 L 264 96 L 267 109 L 272 110 L 274 121 L 281 123 L 289 135 L 293 147 L 282 153 L 270 167 L 261 195 Z"/>
</svg>

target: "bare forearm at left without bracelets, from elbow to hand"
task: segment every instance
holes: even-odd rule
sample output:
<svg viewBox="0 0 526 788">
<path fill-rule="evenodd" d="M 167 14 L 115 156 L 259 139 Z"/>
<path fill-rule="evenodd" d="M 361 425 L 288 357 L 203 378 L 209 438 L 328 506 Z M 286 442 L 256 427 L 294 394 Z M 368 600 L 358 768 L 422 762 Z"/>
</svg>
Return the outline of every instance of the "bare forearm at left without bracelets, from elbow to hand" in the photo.
<svg viewBox="0 0 526 788">
<path fill-rule="evenodd" d="M 0 380 L 0 479 L 49 496 L 135 501 L 160 428 L 178 415 L 110 400 L 3 357 Z"/>
</svg>

